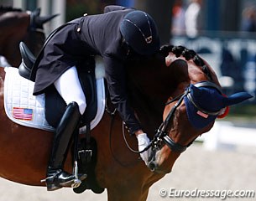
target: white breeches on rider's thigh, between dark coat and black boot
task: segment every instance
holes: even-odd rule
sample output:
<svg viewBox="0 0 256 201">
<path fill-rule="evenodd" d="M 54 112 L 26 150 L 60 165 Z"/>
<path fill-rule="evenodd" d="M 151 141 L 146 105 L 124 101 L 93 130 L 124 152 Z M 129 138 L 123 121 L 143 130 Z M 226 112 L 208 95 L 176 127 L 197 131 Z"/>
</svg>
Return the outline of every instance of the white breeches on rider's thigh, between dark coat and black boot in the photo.
<svg viewBox="0 0 256 201">
<path fill-rule="evenodd" d="M 86 96 L 81 88 L 75 66 L 60 75 L 60 78 L 55 81 L 54 85 L 66 105 L 75 101 L 79 106 L 81 115 L 86 111 Z"/>
</svg>

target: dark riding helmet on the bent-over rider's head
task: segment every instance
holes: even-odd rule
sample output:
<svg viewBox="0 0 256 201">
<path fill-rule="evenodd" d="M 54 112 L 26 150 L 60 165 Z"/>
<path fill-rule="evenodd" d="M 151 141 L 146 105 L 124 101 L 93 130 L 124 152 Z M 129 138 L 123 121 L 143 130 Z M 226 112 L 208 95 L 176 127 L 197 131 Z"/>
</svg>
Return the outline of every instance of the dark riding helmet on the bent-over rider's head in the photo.
<svg viewBox="0 0 256 201">
<path fill-rule="evenodd" d="M 128 13 L 120 25 L 125 42 L 138 54 L 150 55 L 159 50 L 159 34 L 154 19 L 143 11 Z"/>
</svg>

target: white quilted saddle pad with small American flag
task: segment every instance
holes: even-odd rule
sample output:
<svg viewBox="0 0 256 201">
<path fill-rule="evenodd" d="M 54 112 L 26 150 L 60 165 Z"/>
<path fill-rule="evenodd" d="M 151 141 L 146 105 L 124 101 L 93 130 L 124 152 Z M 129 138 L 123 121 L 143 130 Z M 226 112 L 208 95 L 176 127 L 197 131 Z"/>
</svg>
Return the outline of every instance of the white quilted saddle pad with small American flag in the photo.
<svg viewBox="0 0 256 201">
<path fill-rule="evenodd" d="M 18 69 L 4 68 L 4 109 L 8 118 L 22 126 L 39 128 L 46 131 L 55 131 L 44 116 L 44 94 L 32 95 L 34 82 L 24 79 L 18 74 Z M 97 77 L 97 115 L 91 121 L 91 129 L 101 121 L 105 110 L 105 85 L 103 76 Z M 86 126 L 80 129 L 83 133 Z"/>
</svg>

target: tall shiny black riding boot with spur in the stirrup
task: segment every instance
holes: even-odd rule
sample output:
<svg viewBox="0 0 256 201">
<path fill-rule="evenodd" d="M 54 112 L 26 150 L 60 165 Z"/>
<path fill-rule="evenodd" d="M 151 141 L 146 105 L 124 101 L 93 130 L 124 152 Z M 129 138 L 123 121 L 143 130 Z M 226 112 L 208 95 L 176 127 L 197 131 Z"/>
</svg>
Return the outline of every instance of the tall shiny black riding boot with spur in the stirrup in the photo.
<svg viewBox="0 0 256 201">
<path fill-rule="evenodd" d="M 57 190 L 74 183 L 75 175 L 63 171 L 65 157 L 73 132 L 81 119 L 79 107 L 76 102 L 71 102 L 65 109 L 59 125 L 56 127 L 50 162 L 47 168 L 46 186 L 48 191 Z M 81 180 L 86 175 L 79 175 Z"/>
</svg>

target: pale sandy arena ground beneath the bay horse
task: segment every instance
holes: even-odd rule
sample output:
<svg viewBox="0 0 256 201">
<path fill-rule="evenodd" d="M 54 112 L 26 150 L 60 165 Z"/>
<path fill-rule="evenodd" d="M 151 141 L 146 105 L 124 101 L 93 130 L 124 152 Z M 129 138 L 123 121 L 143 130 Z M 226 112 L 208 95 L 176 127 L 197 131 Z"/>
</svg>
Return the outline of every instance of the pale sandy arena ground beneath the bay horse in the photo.
<svg viewBox="0 0 256 201">
<path fill-rule="evenodd" d="M 172 198 L 175 190 L 185 191 L 183 198 Z M 173 172 L 149 191 L 149 201 L 158 200 L 224 200 L 220 198 L 185 197 L 189 191 L 215 190 L 217 195 L 227 190 L 253 190 L 256 193 L 256 147 L 236 147 L 232 150 L 221 149 L 206 151 L 201 144 L 193 144 L 175 163 Z M 160 192 L 166 194 L 161 196 Z M 222 193 L 223 194 L 223 193 Z M 0 201 L 103 201 L 107 192 L 95 194 L 91 191 L 76 194 L 70 188 L 47 192 L 46 188 L 30 187 L 0 178 Z M 254 198 L 226 198 L 227 201 L 254 201 Z"/>
</svg>

